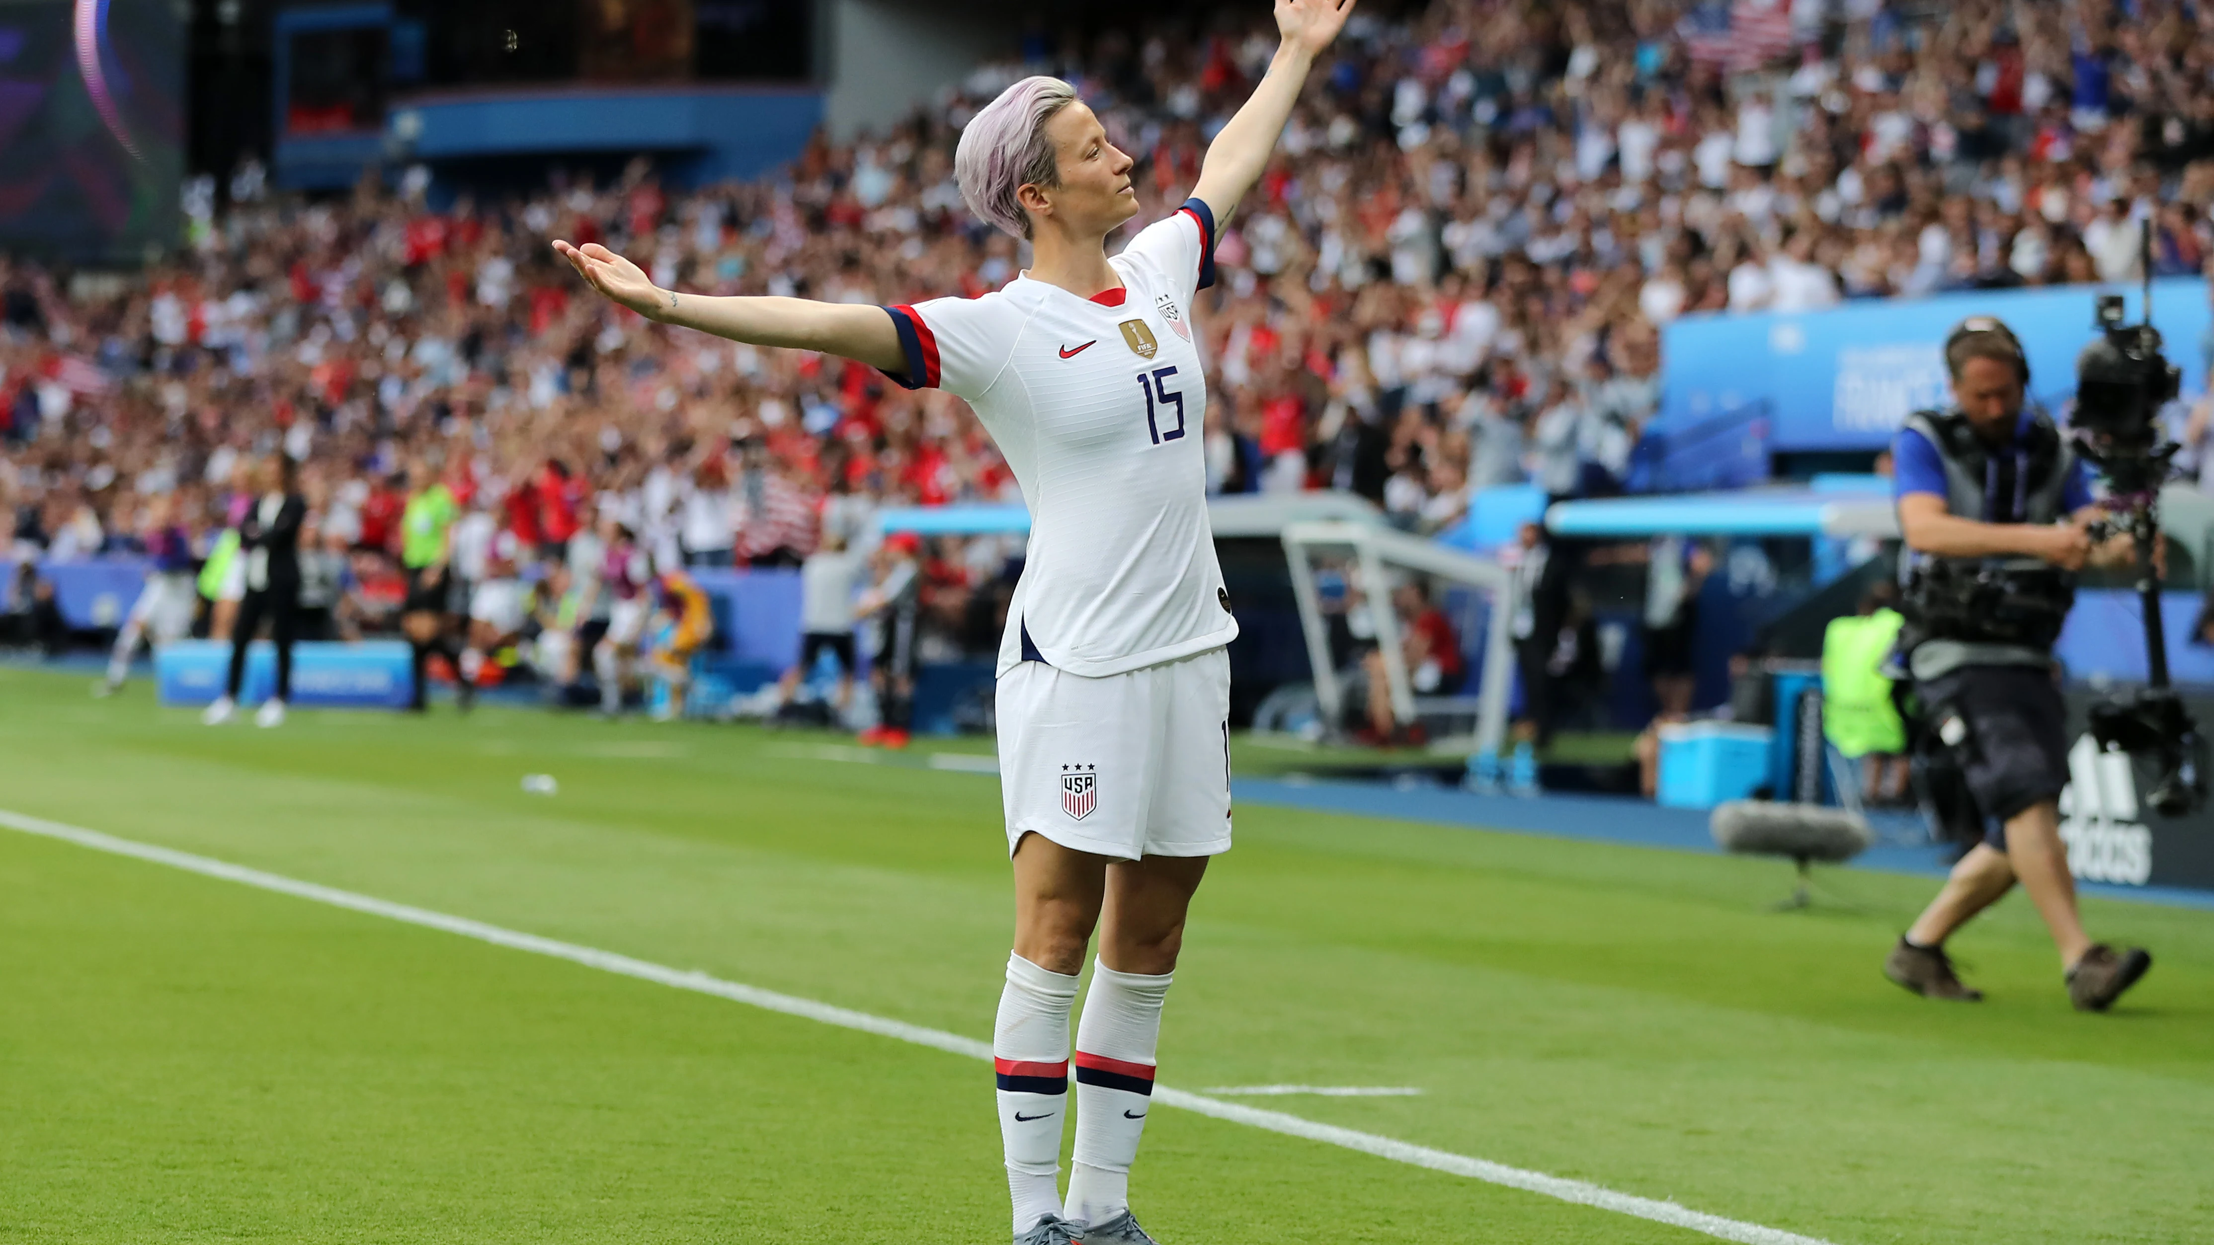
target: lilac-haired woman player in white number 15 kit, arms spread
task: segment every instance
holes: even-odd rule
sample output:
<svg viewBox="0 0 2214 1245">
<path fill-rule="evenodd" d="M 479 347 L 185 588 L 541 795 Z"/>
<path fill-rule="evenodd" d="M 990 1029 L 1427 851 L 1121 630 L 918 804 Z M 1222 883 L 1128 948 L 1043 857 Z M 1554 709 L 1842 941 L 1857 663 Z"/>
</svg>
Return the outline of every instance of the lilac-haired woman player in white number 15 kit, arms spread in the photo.
<svg viewBox="0 0 2214 1245">
<path fill-rule="evenodd" d="M 839 354 L 965 398 L 1023 487 L 1030 555 L 999 657 L 1016 929 L 992 1039 L 1018 1245 L 1153 1241 L 1127 1183 L 1160 1004 L 1207 858 L 1231 845 L 1222 648 L 1238 624 L 1207 526 L 1191 299 L 1213 283 L 1215 226 L 1351 11 L 1275 0 L 1275 60 L 1215 135 L 1191 199 L 1116 257 L 1107 234 L 1138 212 L 1131 159 L 1067 82 L 1010 86 L 961 133 L 954 179 L 976 217 L 1032 243 L 1032 265 L 981 299 L 702 299 L 655 287 L 602 245 L 554 243 L 655 321 Z M 1094 929 L 1063 1203 L 1069 1011 Z"/>
</svg>

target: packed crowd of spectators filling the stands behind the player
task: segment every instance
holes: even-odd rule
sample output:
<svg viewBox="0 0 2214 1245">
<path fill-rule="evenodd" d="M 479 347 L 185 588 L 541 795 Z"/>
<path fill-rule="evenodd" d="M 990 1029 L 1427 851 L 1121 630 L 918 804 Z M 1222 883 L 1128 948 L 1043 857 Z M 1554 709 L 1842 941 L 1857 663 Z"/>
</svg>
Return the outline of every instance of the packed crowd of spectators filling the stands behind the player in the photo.
<svg viewBox="0 0 2214 1245">
<path fill-rule="evenodd" d="M 1439 531 L 1490 484 L 1621 489 L 1674 316 L 2134 279 L 2148 217 L 2154 268 L 2199 272 L 2210 27 L 2214 7 L 2181 0 L 1357 13 L 1198 305 L 1209 487 L 1351 489 Z M 144 279 L 0 259 L 9 542 L 135 548 L 175 495 L 164 513 L 206 551 L 250 462 L 283 451 L 339 615 L 376 630 L 403 597 L 410 467 L 454 491 L 472 579 L 487 551 L 554 559 L 609 522 L 666 566 L 797 564 L 826 535 L 872 542 L 877 506 L 1014 500 L 959 400 L 644 323 L 547 239 L 717 294 L 976 294 L 1023 254 L 954 190 L 965 117 L 1021 73 L 1069 77 L 1156 219 L 1273 46 L 1227 15 L 1198 35 L 1032 49 L 751 184 L 680 192 L 635 164 L 447 199 L 410 168 L 301 199 L 246 166 L 195 184 L 188 245 Z M 1018 557 L 1005 537 L 930 544 L 934 644 L 992 648 Z"/>
</svg>

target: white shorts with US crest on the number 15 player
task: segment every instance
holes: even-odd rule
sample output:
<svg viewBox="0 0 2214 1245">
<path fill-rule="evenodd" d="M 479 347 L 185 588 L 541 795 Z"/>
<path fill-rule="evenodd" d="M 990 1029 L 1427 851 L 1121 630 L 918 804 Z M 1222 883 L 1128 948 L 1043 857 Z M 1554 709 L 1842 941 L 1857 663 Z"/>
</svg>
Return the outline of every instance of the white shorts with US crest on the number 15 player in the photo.
<svg viewBox="0 0 2214 1245">
<path fill-rule="evenodd" d="M 1122 860 L 1229 851 L 1229 719 L 1222 648 L 1103 679 L 1023 661 L 999 679 L 1007 851 L 1032 831 Z"/>
</svg>

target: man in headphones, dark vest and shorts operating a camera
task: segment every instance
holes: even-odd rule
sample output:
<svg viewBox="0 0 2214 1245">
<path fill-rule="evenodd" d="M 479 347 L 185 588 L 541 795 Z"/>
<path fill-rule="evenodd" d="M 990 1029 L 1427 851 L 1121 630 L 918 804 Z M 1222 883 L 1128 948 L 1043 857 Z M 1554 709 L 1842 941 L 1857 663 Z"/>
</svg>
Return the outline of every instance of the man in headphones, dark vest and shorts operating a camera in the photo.
<svg viewBox="0 0 2214 1245">
<path fill-rule="evenodd" d="M 2028 358 L 2015 334 L 1970 316 L 1946 338 L 1953 407 L 1917 411 L 1893 444 L 1900 531 L 1913 551 L 1902 637 L 1931 734 L 1951 750 L 1984 818 L 1984 840 L 1884 962 L 1884 975 L 1939 1000 L 1984 997 L 1959 982 L 1944 940 L 2019 880 L 2052 931 L 2077 1008 L 2106 1011 L 2152 964 L 2092 942 L 2077 916 L 2059 794 L 2066 708 L 2052 641 L 2075 571 L 2121 562 L 2128 540 L 2092 542 L 2090 469 L 2024 407 Z M 1997 577 L 1977 568 L 1997 562 Z M 1968 595 L 1968 584 L 1982 595 Z"/>
</svg>

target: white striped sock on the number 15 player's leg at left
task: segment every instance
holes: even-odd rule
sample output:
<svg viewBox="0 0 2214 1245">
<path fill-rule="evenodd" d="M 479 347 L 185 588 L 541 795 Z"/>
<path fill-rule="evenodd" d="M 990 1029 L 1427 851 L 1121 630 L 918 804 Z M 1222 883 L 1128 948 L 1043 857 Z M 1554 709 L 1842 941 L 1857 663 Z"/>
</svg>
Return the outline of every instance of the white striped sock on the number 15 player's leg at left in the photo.
<svg viewBox="0 0 2214 1245">
<path fill-rule="evenodd" d="M 1076 977 L 1007 955 L 992 1026 L 999 1137 L 1007 1152 L 1014 1232 L 1061 1214 L 1061 1126 L 1069 1103 L 1069 1008 Z"/>
</svg>

